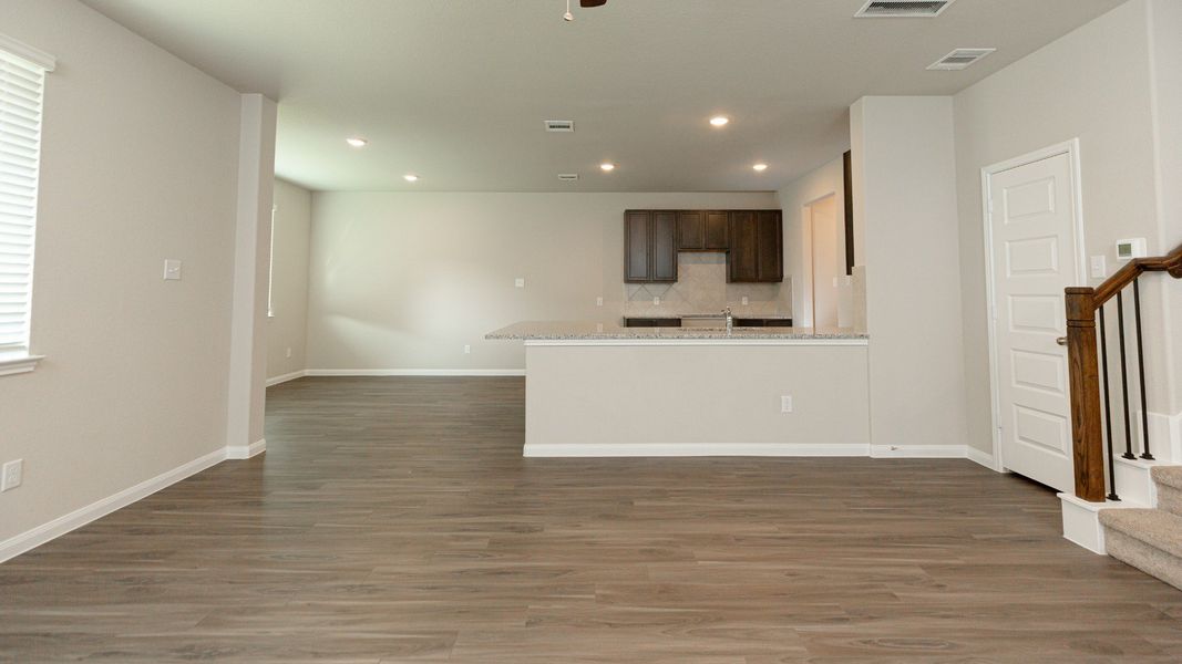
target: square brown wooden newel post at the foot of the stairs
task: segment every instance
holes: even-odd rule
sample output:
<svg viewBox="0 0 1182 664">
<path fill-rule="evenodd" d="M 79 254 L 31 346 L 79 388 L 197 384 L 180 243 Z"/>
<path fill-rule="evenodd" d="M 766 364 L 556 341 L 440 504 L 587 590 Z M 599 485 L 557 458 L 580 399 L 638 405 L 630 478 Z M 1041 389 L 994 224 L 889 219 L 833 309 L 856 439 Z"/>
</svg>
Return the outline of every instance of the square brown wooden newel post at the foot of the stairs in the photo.
<svg viewBox="0 0 1182 664">
<path fill-rule="evenodd" d="M 1076 495 L 1090 502 L 1104 502 L 1104 438 L 1100 434 L 1093 297 L 1093 288 L 1067 288 L 1067 365 L 1071 372 Z"/>
</svg>

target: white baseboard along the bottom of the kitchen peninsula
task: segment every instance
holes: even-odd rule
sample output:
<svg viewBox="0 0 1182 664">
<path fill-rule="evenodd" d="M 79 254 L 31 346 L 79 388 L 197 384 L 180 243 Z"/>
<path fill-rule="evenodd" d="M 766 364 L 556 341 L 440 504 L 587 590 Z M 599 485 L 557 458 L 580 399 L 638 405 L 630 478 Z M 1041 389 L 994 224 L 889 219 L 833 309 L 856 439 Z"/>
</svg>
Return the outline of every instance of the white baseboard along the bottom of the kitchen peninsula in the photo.
<svg viewBox="0 0 1182 664">
<path fill-rule="evenodd" d="M 868 456 L 870 445 L 790 443 L 533 443 L 530 457 L 621 456 Z"/>
</svg>

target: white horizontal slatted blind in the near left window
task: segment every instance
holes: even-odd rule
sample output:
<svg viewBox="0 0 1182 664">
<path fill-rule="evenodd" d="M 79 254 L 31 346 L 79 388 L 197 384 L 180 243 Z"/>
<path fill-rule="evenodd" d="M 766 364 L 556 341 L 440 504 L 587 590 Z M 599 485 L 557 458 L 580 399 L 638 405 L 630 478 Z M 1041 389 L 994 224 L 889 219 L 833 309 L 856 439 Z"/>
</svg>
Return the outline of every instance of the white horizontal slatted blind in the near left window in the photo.
<svg viewBox="0 0 1182 664">
<path fill-rule="evenodd" d="M 0 352 L 27 350 L 46 67 L 0 41 Z"/>
</svg>

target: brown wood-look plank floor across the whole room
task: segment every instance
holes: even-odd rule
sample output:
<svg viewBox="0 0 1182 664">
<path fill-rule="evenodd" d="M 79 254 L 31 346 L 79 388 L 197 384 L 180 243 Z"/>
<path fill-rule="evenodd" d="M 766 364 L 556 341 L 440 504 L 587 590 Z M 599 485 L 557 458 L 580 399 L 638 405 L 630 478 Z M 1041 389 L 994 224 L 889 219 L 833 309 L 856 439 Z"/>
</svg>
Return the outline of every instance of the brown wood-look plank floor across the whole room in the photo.
<svg viewBox="0 0 1182 664">
<path fill-rule="evenodd" d="M 1182 662 L 1182 593 L 959 460 L 522 458 L 520 378 L 304 378 L 267 453 L 0 565 L 0 662 Z"/>
</svg>

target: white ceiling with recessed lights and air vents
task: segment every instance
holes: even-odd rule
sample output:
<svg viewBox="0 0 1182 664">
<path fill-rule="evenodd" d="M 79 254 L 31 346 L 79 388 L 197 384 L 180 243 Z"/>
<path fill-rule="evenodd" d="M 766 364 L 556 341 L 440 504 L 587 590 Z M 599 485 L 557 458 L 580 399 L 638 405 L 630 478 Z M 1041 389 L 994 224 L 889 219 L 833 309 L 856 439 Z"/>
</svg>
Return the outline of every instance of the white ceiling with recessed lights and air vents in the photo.
<svg viewBox="0 0 1182 664">
<path fill-rule="evenodd" d="M 936 19 L 853 19 L 864 0 L 609 0 L 574 22 L 565 0 L 84 1 L 278 99 L 275 170 L 312 189 L 745 191 L 839 156 L 859 97 L 957 92 L 1124 0 L 957 0 Z M 956 47 L 998 52 L 924 70 Z M 732 124 L 712 129 L 716 113 Z"/>
</svg>

